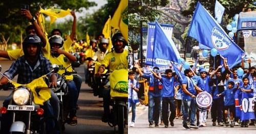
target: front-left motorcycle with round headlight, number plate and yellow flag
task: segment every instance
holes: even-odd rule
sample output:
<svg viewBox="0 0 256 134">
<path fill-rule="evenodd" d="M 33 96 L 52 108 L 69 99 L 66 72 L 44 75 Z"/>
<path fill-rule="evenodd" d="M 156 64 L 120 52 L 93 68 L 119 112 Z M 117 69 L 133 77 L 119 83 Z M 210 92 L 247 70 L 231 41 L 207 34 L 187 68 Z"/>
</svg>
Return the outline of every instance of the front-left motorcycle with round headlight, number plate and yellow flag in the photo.
<svg viewBox="0 0 256 134">
<path fill-rule="evenodd" d="M 0 71 L 2 70 L 0 66 Z M 9 132 L 11 133 L 45 133 L 46 120 L 43 118 L 44 109 L 40 108 L 46 100 L 51 97 L 50 89 L 46 84 L 47 75 L 52 72 L 57 72 L 58 66 L 53 65 L 53 69 L 39 78 L 34 79 L 29 84 L 18 84 L 3 73 L 8 82 L 8 89 L 12 91 L 12 99 L 8 107 L 2 107 L 0 112 L 7 114 L 7 111 L 12 114 L 12 124 Z M 2 122 L 3 123 L 3 122 Z"/>
</svg>

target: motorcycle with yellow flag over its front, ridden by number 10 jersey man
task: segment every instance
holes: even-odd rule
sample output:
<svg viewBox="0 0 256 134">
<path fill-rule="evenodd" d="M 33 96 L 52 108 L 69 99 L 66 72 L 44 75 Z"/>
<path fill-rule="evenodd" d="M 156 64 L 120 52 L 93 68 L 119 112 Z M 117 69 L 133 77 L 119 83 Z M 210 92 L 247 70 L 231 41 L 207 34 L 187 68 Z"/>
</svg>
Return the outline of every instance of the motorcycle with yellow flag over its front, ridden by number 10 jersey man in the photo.
<svg viewBox="0 0 256 134">
<path fill-rule="evenodd" d="M 127 70 L 115 70 L 111 74 L 100 74 L 101 85 L 103 86 L 103 96 L 110 95 L 110 119 L 108 124 L 114 127 L 118 126 L 118 133 L 123 134 L 125 125 L 127 124 L 127 96 L 128 96 L 128 83 L 127 83 Z M 123 74 L 120 76 L 120 74 Z M 110 91 L 110 92 L 109 92 Z"/>
</svg>

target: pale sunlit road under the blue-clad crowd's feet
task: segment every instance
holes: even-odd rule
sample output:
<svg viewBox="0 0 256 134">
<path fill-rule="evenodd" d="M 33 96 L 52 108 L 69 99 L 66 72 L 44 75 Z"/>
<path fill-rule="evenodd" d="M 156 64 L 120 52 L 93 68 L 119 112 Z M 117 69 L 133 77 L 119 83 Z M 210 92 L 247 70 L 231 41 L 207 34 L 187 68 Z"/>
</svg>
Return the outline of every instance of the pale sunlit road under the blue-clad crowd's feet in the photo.
<svg viewBox="0 0 256 134">
<path fill-rule="evenodd" d="M 199 129 L 190 129 L 185 130 L 182 128 L 182 119 L 175 119 L 174 126 L 170 126 L 165 128 L 163 125 L 159 125 L 159 127 L 148 128 L 147 121 L 147 106 L 138 106 L 136 109 L 136 120 L 135 127 L 129 127 L 128 133 L 140 133 L 140 134 L 156 134 L 156 133 L 175 133 L 175 134 L 184 134 L 184 133 L 196 133 L 196 134 L 238 134 L 238 133 L 255 133 L 256 127 L 249 126 L 248 128 L 242 128 L 240 126 L 234 126 L 230 128 L 229 126 L 212 126 L 211 119 L 207 119 L 207 126 L 200 127 Z M 132 113 L 129 114 L 129 122 L 131 121 Z M 210 117 L 210 115 L 209 115 Z"/>
</svg>

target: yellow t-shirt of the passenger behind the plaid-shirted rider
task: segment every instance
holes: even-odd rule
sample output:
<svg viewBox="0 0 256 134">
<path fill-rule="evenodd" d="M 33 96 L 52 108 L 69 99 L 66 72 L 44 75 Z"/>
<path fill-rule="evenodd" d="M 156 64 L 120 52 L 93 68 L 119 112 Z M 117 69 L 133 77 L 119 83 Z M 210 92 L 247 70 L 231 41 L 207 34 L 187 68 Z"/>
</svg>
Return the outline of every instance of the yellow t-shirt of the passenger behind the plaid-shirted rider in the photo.
<svg viewBox="0 0 256 134">
<path fill-rule="evenodd" d="M 7 53 L 11 60 L 17 60 L 24 55 L 23 49 L 9 50 Z M 46 46 L 42 47 L 42 55 L 47 59 L 50 57 L 50 43 L 48 39 L 46 39 Z"/>
</svg>

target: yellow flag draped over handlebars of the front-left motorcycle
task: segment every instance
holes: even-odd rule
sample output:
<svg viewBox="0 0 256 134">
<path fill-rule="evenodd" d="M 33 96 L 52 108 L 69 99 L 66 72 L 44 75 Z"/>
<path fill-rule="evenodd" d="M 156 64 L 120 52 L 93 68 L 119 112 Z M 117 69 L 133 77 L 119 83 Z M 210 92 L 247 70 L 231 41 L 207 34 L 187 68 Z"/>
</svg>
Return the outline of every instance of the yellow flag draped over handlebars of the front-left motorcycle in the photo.
<svg viewBox="0 0 256 134">
<path fill-rule="evenodd" d="M 30 82 L 29 84 L 18 84 L 15 82 L 11 82 L 16 88 L 19 86 L 26 86 L 28 87 L 32 94 L 33 94 L 33 101 L 35 104 L 40 104 L 40 105 L 44 105 L 44 102 L 47 101 L 48 99 L 51 98 L 51 91 L 48 88 L 48 86 L 46 85 L 45 82 L 45 77 L 46 75 L 43 75 L 39 78 L 34 79 L 32 82 Z M 36 93 L 36 89 L 41 89 L 39 91 L 39 96 Z"/>
</svg>

